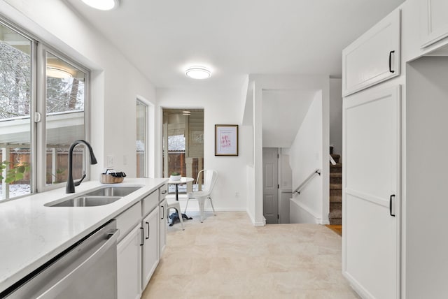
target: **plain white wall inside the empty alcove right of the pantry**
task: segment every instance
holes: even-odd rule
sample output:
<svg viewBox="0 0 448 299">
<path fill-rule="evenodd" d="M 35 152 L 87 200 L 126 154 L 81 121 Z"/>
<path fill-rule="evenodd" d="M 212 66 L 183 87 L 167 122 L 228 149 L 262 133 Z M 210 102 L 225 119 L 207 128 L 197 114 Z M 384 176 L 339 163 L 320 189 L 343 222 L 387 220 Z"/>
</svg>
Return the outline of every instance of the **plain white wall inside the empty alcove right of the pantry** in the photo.
<svg viewBox="0 0 448 299">
<path fill-rule="evenodd" d="M 423 57 L 406 68 L 406 298 L 448 293 L 448 57 Z"/>
</svg>

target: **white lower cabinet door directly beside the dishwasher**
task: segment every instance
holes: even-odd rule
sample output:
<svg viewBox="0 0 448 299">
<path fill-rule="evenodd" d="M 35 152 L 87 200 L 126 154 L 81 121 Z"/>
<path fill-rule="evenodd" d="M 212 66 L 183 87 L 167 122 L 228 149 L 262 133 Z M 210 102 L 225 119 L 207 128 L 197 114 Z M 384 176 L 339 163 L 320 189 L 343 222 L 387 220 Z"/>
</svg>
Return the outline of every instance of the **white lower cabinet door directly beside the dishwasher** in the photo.
<svg viewBox="0 0 448 299">
<path fill-rule="evenodd" d="M 118 299 L 140 298 L 142 236 L 139 224 L 117 245 Z"/>
</svg>

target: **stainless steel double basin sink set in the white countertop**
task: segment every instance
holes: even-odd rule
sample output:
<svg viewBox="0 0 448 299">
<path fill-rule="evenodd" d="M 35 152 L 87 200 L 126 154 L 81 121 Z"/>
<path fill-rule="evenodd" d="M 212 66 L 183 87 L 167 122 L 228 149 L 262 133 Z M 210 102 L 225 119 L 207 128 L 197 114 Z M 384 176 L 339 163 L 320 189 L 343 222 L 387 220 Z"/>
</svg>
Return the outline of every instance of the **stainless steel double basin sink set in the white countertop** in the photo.
<svg viewBox="0 0 448 299">
<path fill-rule="evenodd" d="M 98 205 L 108 205 L 124 196 L 140 189 L 140 186 L 106 186 L 100 189 L 88 191 L 75 198 L 45 203 L 46 207 L 96 207 Z"/>
</svg>

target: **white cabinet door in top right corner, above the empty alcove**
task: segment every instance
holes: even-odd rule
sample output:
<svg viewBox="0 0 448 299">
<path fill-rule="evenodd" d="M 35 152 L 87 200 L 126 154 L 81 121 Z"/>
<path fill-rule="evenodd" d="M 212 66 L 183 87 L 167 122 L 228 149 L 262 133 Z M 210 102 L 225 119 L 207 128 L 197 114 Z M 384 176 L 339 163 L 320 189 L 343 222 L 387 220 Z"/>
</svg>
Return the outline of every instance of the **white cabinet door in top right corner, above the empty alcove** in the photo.
<svg viewBox="0 0 448 299">
<path fill-rule="evenodd" d="M 432 45 L 448 36 L 448 1 L 420 0 L 421 47 Z"/>
</svg>

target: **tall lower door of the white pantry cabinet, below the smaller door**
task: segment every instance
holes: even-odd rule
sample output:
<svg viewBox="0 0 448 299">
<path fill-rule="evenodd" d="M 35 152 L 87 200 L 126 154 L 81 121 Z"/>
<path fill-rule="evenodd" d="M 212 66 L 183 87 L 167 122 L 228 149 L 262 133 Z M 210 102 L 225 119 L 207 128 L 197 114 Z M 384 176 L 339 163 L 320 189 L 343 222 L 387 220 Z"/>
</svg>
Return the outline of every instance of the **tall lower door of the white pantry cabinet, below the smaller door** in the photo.
<svg viewBox="0 0 448 299">
<path fill-rule="evenodd" d="M 342 272 L 363 298 L 400 298 L 400 87 L 344 98 Z"/>
</svg>

